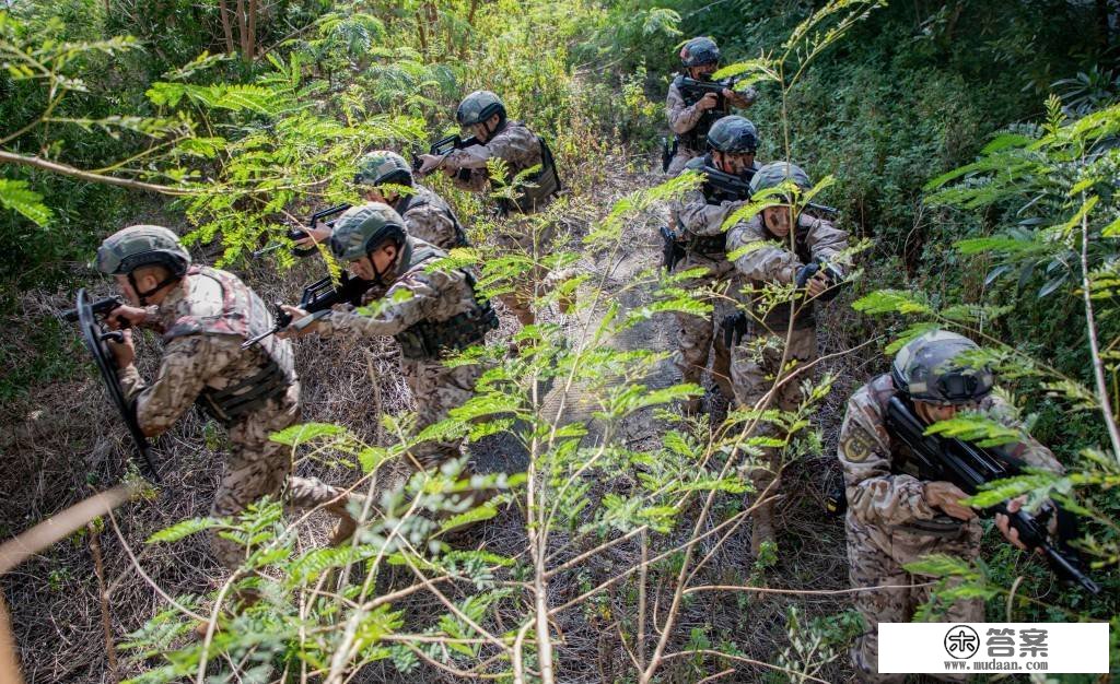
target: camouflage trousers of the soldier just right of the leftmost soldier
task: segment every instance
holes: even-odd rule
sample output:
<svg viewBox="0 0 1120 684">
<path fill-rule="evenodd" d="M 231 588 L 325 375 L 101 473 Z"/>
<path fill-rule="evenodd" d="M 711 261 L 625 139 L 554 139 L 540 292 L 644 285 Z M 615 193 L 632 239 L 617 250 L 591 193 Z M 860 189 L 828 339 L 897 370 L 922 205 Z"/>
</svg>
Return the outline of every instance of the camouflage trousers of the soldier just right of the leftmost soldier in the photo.
<svg viewBox="0 0 1120 684">
<path fill-rule="evenodd" d="M 483 369 L 480 365 L 448 368 L 438 359 L 401 358 L 401 373 L 417 401 L 416 431 L 446 419 L 451 409 L 474 396 L 475 383 Z M 411 453 L 422 468 L 435 468 L 459 458 L 463 442 L 426 441 L 417 444 Z"/>
</svg>

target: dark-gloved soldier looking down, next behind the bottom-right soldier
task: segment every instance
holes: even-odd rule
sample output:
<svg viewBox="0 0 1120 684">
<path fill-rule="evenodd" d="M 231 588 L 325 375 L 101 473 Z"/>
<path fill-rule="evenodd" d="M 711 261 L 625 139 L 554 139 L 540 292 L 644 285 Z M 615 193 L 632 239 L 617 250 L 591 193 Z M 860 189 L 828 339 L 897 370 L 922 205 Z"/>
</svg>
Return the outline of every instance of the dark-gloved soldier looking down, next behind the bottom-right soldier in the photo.
<svg viewBox="0 0 1120 684">
<path fill-rule="evenodd" d="M 776 188 L 792 181 L 802 190 L 812 187 L 809 176 L 792 163 L 768 163 L 750 179 L 750 191 Z M 748 313 L 740 315 L 731 348 L 731 383 L 741 407 L 759 405 L 769 394 L 767 406 L 793 411 L 801 401 L 799 386 L 803 375 L 790 377 L 816 358 L 814 300 L 830 299 L 842 280 L 837 262 L 848 247 L 848 233 L 830 221 L 795 213 L 792 197 L 778 197 L 782 204 L 766 206 L 750 219 L 734 226 L 727 235 L 727 251 L 748 251 L 735 260 L 735 269 L 748 298 Z M 794 228 L 796 226 L 796 228 Z M 821 264 L 825 264 L 821 266 Z M 815 271 L 815 275 L 806 278 Z M 804 281 L 792 300 L 774 304 L 774 285 Z M 784 382 L 783 382 L 784 381 Z M 778 384 L 781 383 L 781 384 Z M 776 386 L 775 386 L 776 385 Z M 773 393 L 772 393 L 773 390 Z M 781 437 L 768 422 L 758 434 Z M 752 472 L 755 491 L 767 499 L 777 487 L 782 469 L 776 449 L 765 450 L 764 463 Z M 774 540 L 774 505 L 763 500 L 754 510 L 750 547 L 757 555 L 763 542 Z"/>
</svg>

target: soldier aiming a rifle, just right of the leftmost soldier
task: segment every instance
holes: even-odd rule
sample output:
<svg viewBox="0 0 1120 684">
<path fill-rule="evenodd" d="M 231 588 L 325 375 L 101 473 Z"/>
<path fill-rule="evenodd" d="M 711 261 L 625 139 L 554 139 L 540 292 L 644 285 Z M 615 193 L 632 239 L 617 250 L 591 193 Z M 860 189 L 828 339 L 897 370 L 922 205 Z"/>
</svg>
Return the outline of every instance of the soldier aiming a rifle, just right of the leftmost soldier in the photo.
<svg viewBox="0 0 1120 684">
<path fill-rule="evenodd" d="M 489 302 L 475 294 L 474 278 L 466 270 L 433 268 L 447 254 L 411 237 L 404 219 L 381 203 L 347 209 L 335 224 L 330 251 L 349 263 L 354 275 L 372 283 L 363 306 L 374 313 L 323 310 L 309 316 L 284 307 L 293 322 L 278 335 L 393 336 L 401 345 L 401 373 L 417 402 L 417 432 L 446 419 L 474 394 L 483 368 L 448 367 L 444 357 L 483 344 L 486 332 L 497 327 Z M 460 443 L 422 442 L 411 453 L 416 465 L 431 468 L 460 456 Z"/>
</svg>

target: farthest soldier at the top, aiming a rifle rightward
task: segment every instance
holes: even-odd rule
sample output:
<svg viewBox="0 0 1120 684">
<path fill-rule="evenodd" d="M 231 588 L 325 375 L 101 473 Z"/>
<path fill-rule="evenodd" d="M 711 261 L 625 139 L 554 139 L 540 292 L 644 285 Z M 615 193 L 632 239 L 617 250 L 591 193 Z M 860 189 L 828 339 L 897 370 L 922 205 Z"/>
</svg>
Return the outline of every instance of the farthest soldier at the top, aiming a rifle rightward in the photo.
<svg viewBox="0 0 1120 684">
<path fill-rule="evenodd" d="M 676 74 L 669 84 L 669 96 L 665 97 L 665 116 L 669 128 L 674 133 L 672 161 L 666 172 L 676 176 L 684 165 L 703 154 L 703 142 L 708 130 L 721 118 L 730 114 L 730 107 L 746 109 L 755 103 L 758 94 L 755 88 L 737 93 L 724 88 L 722 104 L 720 95 L 707 93 L 702 97 L 685 97 L 681 92 L 683 78 L 693 81 L 711 81 L 711 75 L 719 68 L 719 47 L 711 38 L 693 38 L 681 48 L 681 65 L 684 73 Z"/>
</svg>

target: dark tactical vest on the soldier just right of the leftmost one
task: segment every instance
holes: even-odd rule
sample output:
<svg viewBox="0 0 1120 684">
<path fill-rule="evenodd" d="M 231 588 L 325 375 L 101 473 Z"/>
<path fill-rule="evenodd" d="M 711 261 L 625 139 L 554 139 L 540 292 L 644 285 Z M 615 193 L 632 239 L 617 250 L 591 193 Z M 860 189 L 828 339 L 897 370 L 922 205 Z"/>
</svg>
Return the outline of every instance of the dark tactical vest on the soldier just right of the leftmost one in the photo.
<svg viewBox="0 0 1120 684">
<path fill-rule="evenodd" d="M 412 252 L 405 272 L 445 255 L 442 250 L 424 244 Z M 463 270 L 461 273 L 466 277 L 470 291 L 474 292 L 474 275 L 467 270 Z M 447 352 L 466 349 L 473 345 L 482 344 L 486 332 L 497 328 L 497 313 L 488 299 L 478 302 L 476 297 L 475 304 L 473 309 L 456 313 L 450 318 L 420 320 L 398 332 L 394 337 L 401 345 L 401 355 L 413 360 L 429 360 L 439 358 Z"/>
</svg>

